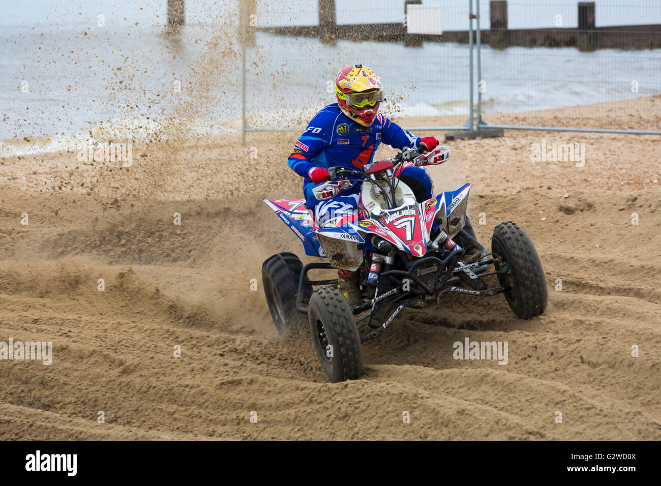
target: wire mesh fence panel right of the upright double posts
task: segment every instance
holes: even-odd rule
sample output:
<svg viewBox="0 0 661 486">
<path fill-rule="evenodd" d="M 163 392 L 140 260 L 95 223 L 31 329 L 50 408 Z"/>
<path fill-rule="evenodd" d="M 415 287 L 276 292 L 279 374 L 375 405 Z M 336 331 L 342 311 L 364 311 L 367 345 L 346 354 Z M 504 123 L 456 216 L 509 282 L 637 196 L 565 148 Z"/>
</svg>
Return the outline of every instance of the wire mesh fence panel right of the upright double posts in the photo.
<svg viewBox="0 0 661 486">
<path fill-rule="evenodd" d="M 661 23 L 661 4 L 510 1 L 506 11 L 508 19 L 515 19 L 514 26 L 526 25 L 523 19 L 529 19 L 527 25 L 539 27 L 490 29 L 495 3 L 502 4 L 479 1 L 486 13 L 481 16 L 479 109 L 488 126 L 661 134 L 658 127 L 645 123 L 658 116 L 661 104 L 637 101 L 661 93 L 660 50 L 636 48 L 656 42 L 659 26 L 625 25 L 642 19 Z M 592 13 L 582 13 L 584 7 L 591 7 Z M 595 12 L 597 19 L 621 25 L 595 25 Z M 623 48 L 603 47 L 617 42 Z M 562 108 L 562 116 L 557 108 Z M 608 116 L 613 110 L 627 112 L 631 124 L 616 125 Z M 522 122 L 522 112 L 531 122 Z"/>
</svg>

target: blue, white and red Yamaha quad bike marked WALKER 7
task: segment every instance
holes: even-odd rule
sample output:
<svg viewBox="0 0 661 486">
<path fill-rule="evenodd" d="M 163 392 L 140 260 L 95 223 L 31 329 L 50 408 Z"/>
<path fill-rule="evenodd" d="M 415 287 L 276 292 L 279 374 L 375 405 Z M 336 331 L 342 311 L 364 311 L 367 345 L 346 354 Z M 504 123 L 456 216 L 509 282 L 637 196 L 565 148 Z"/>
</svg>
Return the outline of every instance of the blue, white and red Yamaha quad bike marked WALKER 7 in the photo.
<svg viewBox="0 0 661 486">
<path fill-rule="evenodd" d="M 330 167 L 331 181 L 313 191 L 317 199 L 331 198 L 356 182 L 362 182 L 362 189 L 356 216 L 323 227 L 303 199 L 264 200 L 301 239 L 306 255 L 327 259 L 303 266 L 293 253 L 278 253 L 264 262 L 262 282 L 278 331 L 300 331 L 307 323 L 331 382 L 362 374 L 362 343 L 377 337 L 405 307 L 425 307 L 444 294 L 461 292 L 502 293 L 520 319 L 531 319 L 546 308 L 544 272 L 522 227 L 500 223 L 491 238 L 492 253 L 487 253 L 466 217 L 471 184 L 425 200 L 428 194 L 397 176 L 410 165 L 438 165 L 449 159 L 449 147 L 428 153 L 422 148 L 362 170 Z M 489 265 L 493 270 L 488 271 Z M 309 270 L 324 268 L 360 270 L 362 302 L 350 307 L 336 288 L 336 278 L 309 280 Z M 490 275 L 496 276 L 498 286 L 488 286 L 484 278 Z M 366 319 L 361 334 L 358 324 Z"/>
</svg>

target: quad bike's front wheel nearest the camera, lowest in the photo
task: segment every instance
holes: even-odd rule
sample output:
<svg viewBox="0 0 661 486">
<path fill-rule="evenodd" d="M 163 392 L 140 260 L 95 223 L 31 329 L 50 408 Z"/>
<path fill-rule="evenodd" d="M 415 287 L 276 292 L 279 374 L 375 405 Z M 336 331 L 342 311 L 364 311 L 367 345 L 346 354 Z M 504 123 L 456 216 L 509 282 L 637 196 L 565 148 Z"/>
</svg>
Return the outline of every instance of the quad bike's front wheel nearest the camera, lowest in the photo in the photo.
<svg viewBox="0 0 661 486">
<path fill-rule="evenodd" d="M 355 380 L 363 372 L 363 347 L 346 299 L 330 287 L 318 289 L 307 307 L 317 358 L 332 383 Z"/>
</svg>

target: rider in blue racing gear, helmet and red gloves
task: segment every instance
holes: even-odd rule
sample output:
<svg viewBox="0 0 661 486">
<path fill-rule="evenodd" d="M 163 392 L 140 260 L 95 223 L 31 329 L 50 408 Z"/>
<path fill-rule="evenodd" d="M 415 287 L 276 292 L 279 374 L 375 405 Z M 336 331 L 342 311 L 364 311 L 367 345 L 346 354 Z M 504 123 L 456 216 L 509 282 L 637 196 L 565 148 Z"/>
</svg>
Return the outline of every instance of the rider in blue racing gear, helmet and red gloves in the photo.
<svg viewBox="0 0 661 486">
<path fill-rule="evenodd" d="M 317 113 L 295 143 L 288 163 L 304 178 L 305 205 L 313 210 L 319 226 L 336 226 L 346 221 L 342 218 L 358 212 L 360 182 L 330 199 L 315 198 L 313 188 L 329 180 L 328 167 L 361 169 L 372 161 L 381 142 L 400 150 L 424 145 L 430 151 L 438 145 L 436 138 L 413 136 L 379 113 L 379 105 L 385 101 L 382 87 L 381 79 L 369 67 L 342 67 L 335 79 L 337 102 Z M 432 179 L 426 169 L 406 167 L 399 179 L 413 190 L 418 201 L 432 197 Z M 338 289 L 351 307 L 360 303 L 359 275 L 359 271 L 338 270 Z"/>
</svg>

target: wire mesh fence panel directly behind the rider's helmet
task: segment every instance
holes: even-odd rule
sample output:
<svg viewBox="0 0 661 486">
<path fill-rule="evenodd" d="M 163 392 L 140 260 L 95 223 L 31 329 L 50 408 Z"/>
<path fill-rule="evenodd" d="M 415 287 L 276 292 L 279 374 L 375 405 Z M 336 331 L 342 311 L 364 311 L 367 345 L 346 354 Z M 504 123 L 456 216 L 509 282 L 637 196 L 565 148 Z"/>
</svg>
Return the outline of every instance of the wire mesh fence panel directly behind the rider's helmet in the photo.
<svg viewBox="0 0 661 486">
<path fill-rule="evenodd" d="M 468 0 L 435 4 L 444 9 L 444 22 L 456 26 L 457 19 L 463 19 L 467 30 Z M 337 15 L 336 38 L 328 42 L 302 28 L 319 25 L 317 1 L 302 1 L 300 6 L 301 13 L 289 18 L 287 28 L 287 19 L 275 15 L 266 2 L 256 3 L 254 46 L 245 51 L 248 130 L 303 129 L 318 110 L 334 102 L 333 83 L 340 67 L 354 63 L 368 65 L 381 77 L 387 95 L 381 110 L 387 116 L 403 120 L 455 114 L 463 124 L 470 112 L 468 44 L 405 39 L 404 0 L 354 3 L 354 22 L 387 21 L 348 24 L 343 11 Z M 377 40 L 388 36 L 395 40 Z"/>
</svg>

